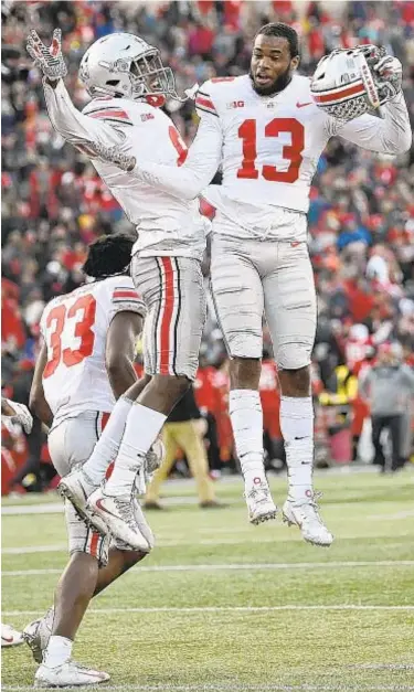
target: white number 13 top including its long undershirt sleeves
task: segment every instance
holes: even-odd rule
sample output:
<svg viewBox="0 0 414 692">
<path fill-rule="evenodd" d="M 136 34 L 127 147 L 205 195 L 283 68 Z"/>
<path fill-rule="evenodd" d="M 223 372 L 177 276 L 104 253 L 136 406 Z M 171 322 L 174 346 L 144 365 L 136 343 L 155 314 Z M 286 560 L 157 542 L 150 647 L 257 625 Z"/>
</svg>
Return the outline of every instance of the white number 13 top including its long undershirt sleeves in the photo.
<svg viewBox="0 0 414 692">
<path fill-rule="evenodd" d="M 273 96 L 256 94 L 248 75 L 210 79 L 195 107 L 201 121 L 184 164 L 171 171 L 139 160 L 134 175 L 187 199 L 201 193 L 219 210 L 213 231 L 237 237 L 306 239 L 311 180 L 333 135 L 389 155 L 412 140 L 403 94 L 382 107 L 383 119 L 342 123 L 315 105 L 298 74 Z M 222 185 L 209 185 L 220 164 Z"/>
</svg>

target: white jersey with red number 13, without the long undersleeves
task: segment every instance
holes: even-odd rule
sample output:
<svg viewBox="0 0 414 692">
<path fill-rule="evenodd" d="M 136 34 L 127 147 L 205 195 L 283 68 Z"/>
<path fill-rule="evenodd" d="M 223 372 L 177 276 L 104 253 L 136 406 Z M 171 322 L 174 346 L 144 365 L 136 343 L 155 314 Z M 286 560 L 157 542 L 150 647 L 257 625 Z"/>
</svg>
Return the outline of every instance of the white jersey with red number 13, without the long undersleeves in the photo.
<svg viewBox="0 0 414 692">
<path fill-rule="evenodd" d="M 309 79 L 294 75 L 274 96 L 258 96 L 247 75 L 212 79 L 198 93 L 199 115 L 217 115 L 223 130 L 223 184 L 205 193 L 256 206 L 306 212 L 309 187 L 329 139 L 326 116 L 311 99 Z"/>
</svg>

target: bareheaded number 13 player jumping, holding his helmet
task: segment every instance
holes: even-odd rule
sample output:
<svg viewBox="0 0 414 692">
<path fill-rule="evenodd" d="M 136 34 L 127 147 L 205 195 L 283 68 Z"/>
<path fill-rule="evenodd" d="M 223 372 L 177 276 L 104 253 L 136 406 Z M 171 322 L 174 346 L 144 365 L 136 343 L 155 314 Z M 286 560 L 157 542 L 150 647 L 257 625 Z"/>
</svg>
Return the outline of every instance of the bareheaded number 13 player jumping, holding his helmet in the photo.
<svg viewBox="0 0 414 692">
<path fill-rule="evenodd" d="M 335 51 L 312 79 L 298 75 L 298 65 L 296 31 L 266 24 L 255 38 L 250 74 L 210 79 L 199 89 L 201 121 L 181 168 L 144 161 L 119 147 L 95 152 L 177 199 L 202 192 L 215 206 L 212 291 L 232 359 L 230 415 L 250 519 L 276 514 L 263 466 L 258 394 L 265 313 L 282 387 L 288 467 L 283 515 L 306 541 L 330 545 L 312 489 L 309 364 L 317 307 L 307 247 L 309 190 L 330 137 L 395 156 L 410 149 L 412 135 L 402 66 L 383 49 Z M 206 187 L 220 164 L 223 184 Z"/>
</svg>

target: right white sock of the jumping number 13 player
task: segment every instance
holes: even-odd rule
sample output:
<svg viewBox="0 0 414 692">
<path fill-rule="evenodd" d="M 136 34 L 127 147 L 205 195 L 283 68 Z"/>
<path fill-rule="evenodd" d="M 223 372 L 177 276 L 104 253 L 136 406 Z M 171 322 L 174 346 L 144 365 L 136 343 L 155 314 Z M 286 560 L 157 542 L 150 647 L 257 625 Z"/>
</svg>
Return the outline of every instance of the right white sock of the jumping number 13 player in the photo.
<svg viewBox="0 0 414 692">
<path fill-rule="evenodd" d="M 280 429 L 286 450 L 288 499 L 312 497 L 314 406 L 310 396 L 282 396 Z"/>
</svg>

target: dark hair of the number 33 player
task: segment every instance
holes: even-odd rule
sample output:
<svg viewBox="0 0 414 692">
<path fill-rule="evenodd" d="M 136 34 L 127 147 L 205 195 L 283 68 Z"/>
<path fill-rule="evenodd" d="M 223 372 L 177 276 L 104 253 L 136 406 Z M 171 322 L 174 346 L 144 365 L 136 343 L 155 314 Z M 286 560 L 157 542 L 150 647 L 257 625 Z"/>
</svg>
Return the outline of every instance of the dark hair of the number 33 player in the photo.
<svg viewBox="0 0 414 692">
<path fill-rule="evenodd" d="M 134 239 L 124 233 L 102 235 L 89 245 L 82 270 L 95 279 L 125 274 L 130 264 Z"/>
</svg>

